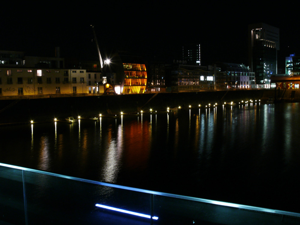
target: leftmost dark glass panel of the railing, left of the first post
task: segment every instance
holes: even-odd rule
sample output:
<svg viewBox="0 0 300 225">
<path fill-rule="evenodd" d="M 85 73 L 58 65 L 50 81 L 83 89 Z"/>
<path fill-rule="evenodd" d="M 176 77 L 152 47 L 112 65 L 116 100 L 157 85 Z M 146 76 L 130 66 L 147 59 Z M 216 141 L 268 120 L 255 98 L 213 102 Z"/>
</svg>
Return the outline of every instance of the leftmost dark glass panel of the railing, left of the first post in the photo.
<svg viewBox="0 0 300 225">
<path fill-rule="evenodd" d="M 0 223 L 25 224 L 22 170 L 0 166 Z"/>
</svg>

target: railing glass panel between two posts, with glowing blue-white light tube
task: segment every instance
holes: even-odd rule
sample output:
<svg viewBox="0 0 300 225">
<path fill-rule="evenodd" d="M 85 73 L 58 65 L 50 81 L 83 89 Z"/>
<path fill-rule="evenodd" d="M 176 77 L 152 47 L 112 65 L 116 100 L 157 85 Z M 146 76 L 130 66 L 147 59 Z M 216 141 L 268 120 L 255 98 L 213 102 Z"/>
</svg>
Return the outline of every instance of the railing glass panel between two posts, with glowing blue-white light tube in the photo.
<svg viewBox="0 0 300 225">
<path fill-rule="evenodd" d="M 29 224 L 150 224 L 119 210 L 150 215 L 150 194 L 29 171 L 25 179 Z"/>
</svg>

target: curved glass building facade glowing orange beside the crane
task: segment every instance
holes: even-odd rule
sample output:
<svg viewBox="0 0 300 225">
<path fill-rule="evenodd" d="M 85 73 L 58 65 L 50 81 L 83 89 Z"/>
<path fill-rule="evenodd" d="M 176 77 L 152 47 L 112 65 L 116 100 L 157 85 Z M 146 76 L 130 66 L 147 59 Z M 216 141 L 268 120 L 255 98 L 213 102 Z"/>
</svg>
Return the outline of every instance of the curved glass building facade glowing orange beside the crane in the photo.
<svg viewBox="0 0 300 225">
<path fill-rule="evenodd" d="M 147 72 L 145 64 L 123 63 L 125 82 L 123 93 L 144 93 L 147 84 Z"/>
</svg>

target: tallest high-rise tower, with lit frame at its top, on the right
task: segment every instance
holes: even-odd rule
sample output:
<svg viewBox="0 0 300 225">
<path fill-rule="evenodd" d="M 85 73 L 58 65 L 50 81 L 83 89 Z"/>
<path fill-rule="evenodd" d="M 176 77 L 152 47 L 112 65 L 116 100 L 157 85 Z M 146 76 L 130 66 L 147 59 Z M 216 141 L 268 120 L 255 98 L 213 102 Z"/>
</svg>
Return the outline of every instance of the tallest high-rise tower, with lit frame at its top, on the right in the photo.
<svg viewBox="0 0 300 225">
<path fill-rule="evenodd" d="M 279 29 L 265 23 L 248 26 L 249 67 L 258 87 L 269 88 L 271 75 L 277 74 Z"/>
</svg>

